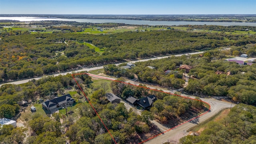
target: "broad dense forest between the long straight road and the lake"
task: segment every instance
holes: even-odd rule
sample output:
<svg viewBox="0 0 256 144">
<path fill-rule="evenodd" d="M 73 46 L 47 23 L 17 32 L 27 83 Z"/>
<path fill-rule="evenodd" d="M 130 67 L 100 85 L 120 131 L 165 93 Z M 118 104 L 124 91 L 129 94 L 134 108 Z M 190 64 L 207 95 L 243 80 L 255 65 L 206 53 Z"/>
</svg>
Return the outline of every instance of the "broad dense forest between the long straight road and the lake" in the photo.
<svg viewBox="0 0 256 144">
<path fill-rule="evenodd" d="M 220 46 L 243 46 L 256 42 L 254 35 L 179 30 L 109 35 L 26 34 L 10 30 L 2 32 L 1 36 L 1 81 L 42 76 L 81 66 L 122 62 L 125 59 L 149 58 Z M 103 51 L 96 52 L 83 42 L 94 44 Z"/>
</svg>

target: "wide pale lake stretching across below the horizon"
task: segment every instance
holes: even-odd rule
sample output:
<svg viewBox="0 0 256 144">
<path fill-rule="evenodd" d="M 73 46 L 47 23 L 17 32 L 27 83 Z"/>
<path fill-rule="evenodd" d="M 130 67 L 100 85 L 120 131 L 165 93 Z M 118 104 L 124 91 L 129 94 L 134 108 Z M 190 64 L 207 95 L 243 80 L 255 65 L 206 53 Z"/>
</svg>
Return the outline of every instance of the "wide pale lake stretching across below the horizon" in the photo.
<svg viewBox="0 0 256 144">
<path fill-rule="evenodd" d="M 42 21 L 42 20 L 60 20 L 88 23 L 124 23 L 136 25 L 218 25 L 218 26 L 256 26 L 256 22 L 186 22 L 186 21 L 149 21 L 149 20 L 111 20 L 111 19 L 67 19 L 67 18 L 41 18 L 41 17 L 0 17 L 0 20 L 20 20 L 20 21 Z"/>
</svg>

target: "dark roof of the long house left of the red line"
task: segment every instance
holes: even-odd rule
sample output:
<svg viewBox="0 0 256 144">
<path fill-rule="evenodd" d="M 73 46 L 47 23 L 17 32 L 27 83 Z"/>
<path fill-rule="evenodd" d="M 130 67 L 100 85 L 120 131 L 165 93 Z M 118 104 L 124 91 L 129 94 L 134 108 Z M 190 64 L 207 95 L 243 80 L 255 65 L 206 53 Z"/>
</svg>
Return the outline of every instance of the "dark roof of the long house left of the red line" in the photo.
<svg viewBox="0 0 256 144">
<path fill-rule="evenodd" d="M 46 100 L 45 102 L 42 103 L 42 105 L 46 106 L 47 108 L 50 108 L 52 106 L 55 106 L 57 104 L 60 104 L 62 102 L 66 102 L 66 101 L 70 101 L 70 100 L 72 101 L 74 99 L 72 98 L 72 96 L 70 94 L 66 94 L 66 95 L 60 96 L 58 98 Z"/>
</svg>

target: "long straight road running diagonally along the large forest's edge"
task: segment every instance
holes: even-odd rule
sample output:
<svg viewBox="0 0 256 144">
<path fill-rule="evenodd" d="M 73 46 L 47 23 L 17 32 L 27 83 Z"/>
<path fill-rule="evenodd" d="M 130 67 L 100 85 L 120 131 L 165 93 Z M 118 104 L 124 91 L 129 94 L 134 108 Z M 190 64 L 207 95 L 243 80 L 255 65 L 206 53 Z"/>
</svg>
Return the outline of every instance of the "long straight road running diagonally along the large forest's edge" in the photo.
<svg viewBox="0 0 256 144">
<path fill-rule="evenodd" d="M 192 52 L 192 53 L 188 53 L 188 54 L 200 54 L 200 53 L 203 53 L 203 52 Z M 184 54 L 177 54 L 177 55 L 174 55 L 174 56 L 182 56 Z M 145 61 L 148 61 L 148 60 L 156 60 L 156 59 L 162 59 L 162 58 L 168 58 L 170 56 L 163 56 L 163 57 L 156 57 L 156 58 L 150 58 L 150 59 L 144 59 L 144 60 L 136 60 L 136 61 L 132 61 L 131 63 L 135 63 L 135 62 L 145 62 Z M 121 64 L 121 63 L 119 63 Z M 116 64 L 116 65 L 119 65 L 119 64 Z M 83 68 L 81 70 L 76 70 L 74 72 L 82 72 L 82 71 L 90 71 L 90 70 L 98 70 L 98 69 L 102 69 L 103 66 L 98 66 L 98 67 L 94 67 L 94 68 Z M 71 73 L 71 72 L 64 72 L 64 73 L 58 73 L 58 74 L 52 74 L 52 76 L 58 76 L 58 75 L 66 75 L 67 73 Z M 40 77 L 39 77 L 40 78 Z M 18 80 L 18 81 L 14 81 L 14 82 L 6 82 L 4 84 L 24 84 L 30 80 L 38 80 L 39 78 L 30 78 L 30 79 L 26 79 L 26 80 Z M 0 84 L 0 87 L 2 86 L 3 84 Z"/>
</svg>

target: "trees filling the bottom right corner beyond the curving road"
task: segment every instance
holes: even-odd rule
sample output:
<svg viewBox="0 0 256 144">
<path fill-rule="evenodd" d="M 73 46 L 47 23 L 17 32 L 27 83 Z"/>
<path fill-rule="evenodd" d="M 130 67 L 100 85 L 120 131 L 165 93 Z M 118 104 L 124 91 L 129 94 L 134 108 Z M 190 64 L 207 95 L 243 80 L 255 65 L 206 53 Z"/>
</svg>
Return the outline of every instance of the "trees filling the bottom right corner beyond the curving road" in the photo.
<svg viewBox="0 0 256 144">
<path fill-rule="evenodd" d="M 245 104 L 234 106 L 228 116 L 209 122 L 200 136 L 185 136 L 181 144 L 254 144 L 256 142 L 256 108 Z"/>
</svg>

